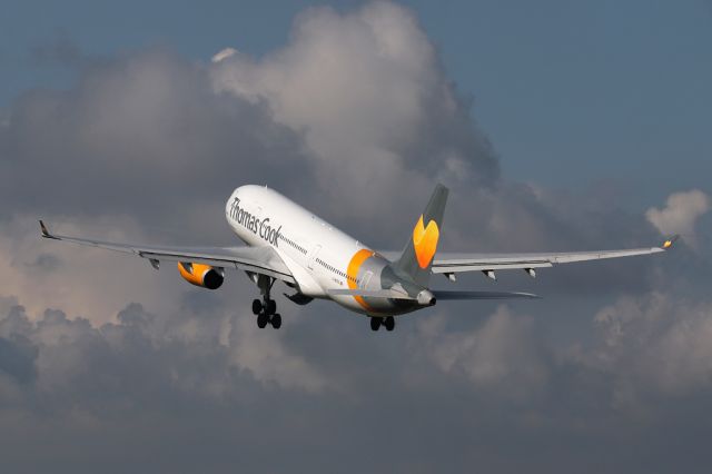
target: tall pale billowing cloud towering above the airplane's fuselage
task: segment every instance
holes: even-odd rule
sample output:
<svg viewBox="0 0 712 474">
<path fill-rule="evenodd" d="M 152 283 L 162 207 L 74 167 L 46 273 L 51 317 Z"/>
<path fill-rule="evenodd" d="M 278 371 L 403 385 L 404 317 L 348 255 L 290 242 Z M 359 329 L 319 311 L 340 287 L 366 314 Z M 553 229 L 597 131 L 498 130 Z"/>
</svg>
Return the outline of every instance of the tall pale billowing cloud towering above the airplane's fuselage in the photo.
<svg viewBox="0 0 712 474">
<path fill-rule="evenodd" d="M 436 179 L 485 187 L 498 179 L 468 103 L 403 7 L 310 9 L 290 43 L 264 59 L 227 51 L 214 58 L 214 88 L 264 100 L 276 120 L 303 131 L 322 194 L 347 217 L 422 199 Z"/>
</svg>

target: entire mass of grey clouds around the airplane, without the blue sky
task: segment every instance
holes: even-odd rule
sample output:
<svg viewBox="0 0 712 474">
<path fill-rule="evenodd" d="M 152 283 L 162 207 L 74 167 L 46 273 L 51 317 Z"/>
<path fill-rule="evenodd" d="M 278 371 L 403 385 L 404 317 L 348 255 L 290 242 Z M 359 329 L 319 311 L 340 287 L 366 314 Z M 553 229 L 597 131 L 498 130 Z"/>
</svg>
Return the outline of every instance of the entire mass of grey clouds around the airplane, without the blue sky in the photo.
<svg viewBox="0 0 712 474">
<path fill-rule="evenodd" d="M 60 45 L 40 56 L 75 53 Z M 463 287 L 547 298 L 438 305 L 373 334 L 335 305 L 297 307 L 280 295 L 285 326 L 259 330 L 248 308 L 257 292 L 243 275 L 228 274 L 215 293 L 179 293 L 178 278 L 167 278 L 174 266 L 156 274 L 39 243 L 39 215 L 73 219 L 77 231 L 113 226 L 120 238 L 170 226 L 184 241 L 219 239 L 224 200 L 246 182 L 268 184 L 386 248 L 404 244 L 437 181 L 452 188 L 446 250 L 660 238 L 642 213 L 623 210 L 615 189 L 565 192 L 502 178 L 471 102 L 398 6 L 309 10 L 280 50 L 229 55 L 210 65 L 165 50 L 68 60 L 76 83 L 28 91 L 0 125 L 6 466 L 700 467 L 690 460 L 711 426 L 694 414 L 709 412 L 712 392 L 703 246 L 542 270 L 536 280 L 503 274 L 496 286 L 464 277 Z M 120 306 L 107 309 L 116 298 Z"/>
</svg>

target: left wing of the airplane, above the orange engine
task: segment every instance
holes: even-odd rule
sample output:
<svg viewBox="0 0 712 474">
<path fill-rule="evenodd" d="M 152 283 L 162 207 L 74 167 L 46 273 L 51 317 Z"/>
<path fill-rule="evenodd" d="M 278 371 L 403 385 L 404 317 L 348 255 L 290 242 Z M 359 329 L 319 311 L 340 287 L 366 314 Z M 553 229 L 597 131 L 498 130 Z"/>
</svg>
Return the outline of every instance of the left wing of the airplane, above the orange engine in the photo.
<svg viewBox="0 0 712 474">
<path fill-rule="evenodd" d="M 289 268 L 270 247 L 151 247 L 50 234 L 41 220 L 40 228 L 44 238 L 137 255 L 148 259 L 155 268 L 158 268 L 161 260 L 190 261 L 216 267 L 231 267 L 267 275 L 291 284 L 296 283 Z"/>
</svg>

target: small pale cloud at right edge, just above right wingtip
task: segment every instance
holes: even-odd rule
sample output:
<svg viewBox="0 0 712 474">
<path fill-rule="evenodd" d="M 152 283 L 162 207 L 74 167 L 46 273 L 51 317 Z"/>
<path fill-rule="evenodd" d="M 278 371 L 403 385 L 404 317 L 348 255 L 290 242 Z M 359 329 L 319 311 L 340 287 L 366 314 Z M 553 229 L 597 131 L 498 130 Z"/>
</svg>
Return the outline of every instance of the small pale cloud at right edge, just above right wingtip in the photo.
<svg viewBox="0 0 712 474">
<path fill-rule="evenodd" d="M 681 234 L 695 243 L 695 223 L 709 210 L 709 196 L 699 189 L 691 189 L 671 194 L 664 208 L 651 207 L 645 217 L 662 235 Z"/>
</svg>

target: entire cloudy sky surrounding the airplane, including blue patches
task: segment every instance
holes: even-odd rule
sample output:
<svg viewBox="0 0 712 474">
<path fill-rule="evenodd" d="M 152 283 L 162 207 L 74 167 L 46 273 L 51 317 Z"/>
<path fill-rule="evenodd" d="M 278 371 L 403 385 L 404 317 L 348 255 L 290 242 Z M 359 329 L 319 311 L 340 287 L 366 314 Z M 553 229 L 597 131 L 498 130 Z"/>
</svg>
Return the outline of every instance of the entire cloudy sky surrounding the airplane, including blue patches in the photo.
<svg viewBox="0 0 712 474">
<path fill-rule="evenodd" d="M 705 472 L 711 27 L 708 1 L 10 2 L 3 464 Z M 544 298 L 374 334 L 281 296 L 281 329 L 259 330 L 244 275 L 195 289 L 37 229 L 230 245 L 224 201 L 255 182 L 397 249 L 438 181 L 445 250 L 682 241 L 466 276 Z"/>
</svg>

